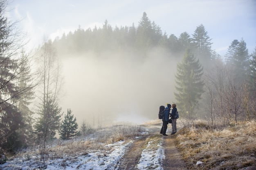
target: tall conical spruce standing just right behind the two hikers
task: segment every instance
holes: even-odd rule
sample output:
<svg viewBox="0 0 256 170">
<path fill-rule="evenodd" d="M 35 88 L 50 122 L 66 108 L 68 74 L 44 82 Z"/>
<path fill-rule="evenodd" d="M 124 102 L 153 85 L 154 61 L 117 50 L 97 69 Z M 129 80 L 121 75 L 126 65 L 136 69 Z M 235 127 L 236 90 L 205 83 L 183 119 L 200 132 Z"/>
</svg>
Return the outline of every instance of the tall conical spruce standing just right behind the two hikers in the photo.
<svg viewBox="0 0 256 170">
<path fill-rule="evenodd" d="M 198 106 L 199 99 L 203 93 L 204 83 L 201 80 L 203 67 L 199 59 L 195 59 L 191 50 L 188 48 L 184 53 L 181 63 L 177 63 L 177 72 L 175 74 L 174 93 L 177 107 L 180 113 L 186 117 L 186 114 L 193 116 L 195 108 Z"/>
</svg>

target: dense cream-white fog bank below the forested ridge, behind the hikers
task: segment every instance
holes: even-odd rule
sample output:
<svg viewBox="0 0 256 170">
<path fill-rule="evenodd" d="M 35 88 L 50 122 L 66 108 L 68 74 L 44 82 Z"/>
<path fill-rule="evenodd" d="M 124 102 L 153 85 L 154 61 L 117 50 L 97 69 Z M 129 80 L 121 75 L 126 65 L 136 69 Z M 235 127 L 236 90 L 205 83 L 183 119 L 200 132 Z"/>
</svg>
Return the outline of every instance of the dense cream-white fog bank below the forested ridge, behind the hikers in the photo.
<svg viewBox="0 0 256 170">
<path fill-rule="evenodd" d="M 158 119 L 159 105 L 174 101 L 176 62 L 157 52 L 145 61 L 119 54 L 63 59 L 66 91 L 60 106 L 92 126 Z"/>
</svg>

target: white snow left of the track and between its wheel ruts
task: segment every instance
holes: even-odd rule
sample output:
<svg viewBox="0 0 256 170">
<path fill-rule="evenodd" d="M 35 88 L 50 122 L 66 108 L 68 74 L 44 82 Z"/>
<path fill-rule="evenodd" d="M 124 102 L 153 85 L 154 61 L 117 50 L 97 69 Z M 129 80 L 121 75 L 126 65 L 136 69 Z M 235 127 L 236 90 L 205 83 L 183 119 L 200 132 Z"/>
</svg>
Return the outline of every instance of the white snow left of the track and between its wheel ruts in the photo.
<svg viewBox="0 0 256 170">
<path fill-rule="evenodd" d="M 147 131 L 147 130 L 146 130 Z M 118 141 L 103 145 L 96 150 L 86 150 L 74 155 L 63 155 L 58 159 L 51 159 L 51 153 L 46 161 L 40 159 L 39 154 L 20 154 L 0 165 L 2 170 L 115 170 L 118 169 L 120 160 L 134 140 Z M 103 149 L 102 149 L 103 148 Z M 139 170 L 155 169 L 162 170 L 161 163 L 164 159 L 162 140 L 157 142 L 150 140 L 141 153 L 141 158 L 136 168 Z M 44 168 L 43 168 L 44 167 Z"/>
</svg>

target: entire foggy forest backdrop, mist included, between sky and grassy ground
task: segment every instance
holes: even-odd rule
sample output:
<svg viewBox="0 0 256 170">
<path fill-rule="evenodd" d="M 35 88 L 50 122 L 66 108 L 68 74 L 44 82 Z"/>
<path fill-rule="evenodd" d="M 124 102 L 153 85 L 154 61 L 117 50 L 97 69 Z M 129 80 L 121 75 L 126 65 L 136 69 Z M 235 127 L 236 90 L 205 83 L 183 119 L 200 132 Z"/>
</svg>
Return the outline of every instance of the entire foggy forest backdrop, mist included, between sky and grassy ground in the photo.
<svg viewBox="0 0 256 170">
<path fill-rule="evenodd" d="M 220 56 L 203 24 L 192 35 L 167 35 L 144 12 L 137 27 L 78 26 L 26 51 L 7 6 L 0 0 L 0 153 L 36 143 L 44 155 L 58 134 L 141 124 L 158 119 L 166 103 L 187 123 L 256 119 L 256 51 L 249 54 L 242 37 Z"/>
</svg>

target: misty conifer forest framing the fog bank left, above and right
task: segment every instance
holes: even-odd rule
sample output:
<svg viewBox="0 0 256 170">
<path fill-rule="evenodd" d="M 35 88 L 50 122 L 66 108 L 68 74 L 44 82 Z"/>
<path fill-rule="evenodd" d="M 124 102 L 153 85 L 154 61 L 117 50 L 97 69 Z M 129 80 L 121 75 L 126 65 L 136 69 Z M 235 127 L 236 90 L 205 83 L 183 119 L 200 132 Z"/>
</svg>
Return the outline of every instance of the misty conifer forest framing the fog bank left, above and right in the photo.
<svg viewBox="0 0 256 170">
<path fill-rule="evenodd" d="M 223 62 L 211 49 L 211 38 L 203 25 L 193 35 L 168 36 L 143 13 L 138 27 L 112 28 L 107 21 L 102 28 L 79 27 L 54 42 L 48 40 L 32 54 L 23 50 L 24 37 L 4 16 L 7 5 L 7 0 L 0 0 L 0 154 L 15 154 L 20 148 L 38 144 L 45 159 L 47 142 L 56 132 L 62 139 L 79 133 L 71 110 L 61 119 L 59 57 L 86 57 L 88 52 L 104 56 L 110 51 L 146 60 L 152 49 L 161 49 L 164 52 L 158 55 L 181 59 L 175 74 L 174 102 L 185 120 L 200 117 L 227 125 L 256 118 L 256 51 L 248 54 L 243 39 L 231 42 Z M 31 72 L 33 60 L 38 68 Z M 80 133 L 85 134 L 87 128 L 83 122 Z"/>
</svg>

